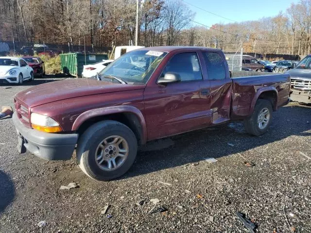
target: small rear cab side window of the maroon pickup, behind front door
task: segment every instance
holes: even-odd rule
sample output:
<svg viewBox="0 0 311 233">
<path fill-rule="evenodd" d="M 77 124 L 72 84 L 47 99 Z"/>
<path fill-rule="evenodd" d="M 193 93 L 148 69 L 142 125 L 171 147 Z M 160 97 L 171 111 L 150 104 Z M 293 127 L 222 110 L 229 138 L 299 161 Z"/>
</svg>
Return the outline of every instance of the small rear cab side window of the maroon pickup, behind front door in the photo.
<svg viewBox="0 0 311 233">
<path fill-rule="evenodd" d="M 225 79 L 225 63 L 217 52 L 203 52 L 209 80 Z"/>
</svg>

